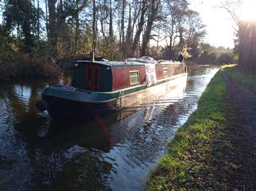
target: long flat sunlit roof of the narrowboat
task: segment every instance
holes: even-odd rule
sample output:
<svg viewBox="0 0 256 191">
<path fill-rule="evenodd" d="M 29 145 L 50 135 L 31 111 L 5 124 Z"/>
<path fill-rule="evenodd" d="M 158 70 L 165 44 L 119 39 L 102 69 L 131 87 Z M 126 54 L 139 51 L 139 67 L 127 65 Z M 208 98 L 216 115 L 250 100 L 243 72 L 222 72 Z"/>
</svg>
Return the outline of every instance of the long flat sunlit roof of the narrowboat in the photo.
<svg viewBox="0 0 256 191">
<path fill-rule="evenodd" d="M 105 66 L 124 66 L 124 65 L 147 65 L 147 64 L 177 64 L 182 63 L 178 61 L 162 61 L 160 63 L 145 63 L 145 62 L 139 62 L 139 61 L 90 61 L 90 60 L 77 60 L 76 63 L 82 62 L 82 63 L 98 63 L 100 65 Z"/>
</svg>

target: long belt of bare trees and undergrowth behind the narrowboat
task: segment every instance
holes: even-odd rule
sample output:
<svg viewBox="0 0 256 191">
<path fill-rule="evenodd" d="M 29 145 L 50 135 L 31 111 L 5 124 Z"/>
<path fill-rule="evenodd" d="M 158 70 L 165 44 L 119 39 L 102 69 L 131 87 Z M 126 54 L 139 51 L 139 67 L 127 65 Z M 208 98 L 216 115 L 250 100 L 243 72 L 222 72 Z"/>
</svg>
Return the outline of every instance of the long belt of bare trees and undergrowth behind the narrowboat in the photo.
<svg viewBox="0 0 256 191">
<path fill-rule="evenodd" d="M 227 63 L 232 58 L 201 49 L 205 25 L 189 1 L 4 0 L 1 5 L 0 35 L 9 44 L 9 56 L 32 56 L 51 67 L 91 51 L 109 60 L 145 54 L 176 60 L 180 51 L 187 62 L 217 63 L 220 58 Z"/>
</svg>

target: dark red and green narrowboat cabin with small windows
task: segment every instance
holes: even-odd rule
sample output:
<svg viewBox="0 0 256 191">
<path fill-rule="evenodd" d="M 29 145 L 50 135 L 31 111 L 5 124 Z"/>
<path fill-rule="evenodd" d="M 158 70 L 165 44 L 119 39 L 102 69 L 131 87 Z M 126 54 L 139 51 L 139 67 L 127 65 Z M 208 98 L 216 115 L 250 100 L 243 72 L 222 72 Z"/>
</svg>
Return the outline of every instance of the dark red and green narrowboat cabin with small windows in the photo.
<svg viewBox="0 0 256 191">
<path fill-rule="evenodd" d="M 186 73 L 185 64 L 180 62 L 76 61 L 72 86 L 109 92 L 152 83 L 152 78 L 154 83 L 183 73 Z"/>
</svg>

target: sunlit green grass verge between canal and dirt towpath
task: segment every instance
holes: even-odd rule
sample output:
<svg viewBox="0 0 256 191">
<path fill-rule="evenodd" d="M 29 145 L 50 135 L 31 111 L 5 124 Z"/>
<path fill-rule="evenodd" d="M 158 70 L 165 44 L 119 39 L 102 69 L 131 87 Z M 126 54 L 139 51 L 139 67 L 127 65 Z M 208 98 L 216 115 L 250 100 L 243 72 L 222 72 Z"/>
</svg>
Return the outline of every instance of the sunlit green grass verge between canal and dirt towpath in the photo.
<svg viewBox="0 0 256 191">
<path fill-rule="evenodd" d="M 200 97 L 198 109 L 168 145 L 147 189 L 234 189 L 240 181 L 234 178 L 239 173 L 233 160 L 237 135 L 230 131 L 234 120 L 227 91 L 220 70 Z"/>
</svg>

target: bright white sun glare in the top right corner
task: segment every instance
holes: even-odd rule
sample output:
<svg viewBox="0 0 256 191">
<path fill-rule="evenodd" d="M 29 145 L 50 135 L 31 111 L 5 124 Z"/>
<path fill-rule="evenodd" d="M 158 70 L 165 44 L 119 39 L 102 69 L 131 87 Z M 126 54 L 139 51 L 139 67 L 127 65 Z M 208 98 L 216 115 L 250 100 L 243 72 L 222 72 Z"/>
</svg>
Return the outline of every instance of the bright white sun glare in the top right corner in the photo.
<svg viewBox="0 0 256 191">
<path fill-rule="evenodd" d="M 244 0 L 241 8 L 241 19 L 256 21 L 255 9 L 256 9 L 256 0 Z"/>
</svg>

